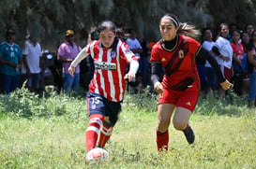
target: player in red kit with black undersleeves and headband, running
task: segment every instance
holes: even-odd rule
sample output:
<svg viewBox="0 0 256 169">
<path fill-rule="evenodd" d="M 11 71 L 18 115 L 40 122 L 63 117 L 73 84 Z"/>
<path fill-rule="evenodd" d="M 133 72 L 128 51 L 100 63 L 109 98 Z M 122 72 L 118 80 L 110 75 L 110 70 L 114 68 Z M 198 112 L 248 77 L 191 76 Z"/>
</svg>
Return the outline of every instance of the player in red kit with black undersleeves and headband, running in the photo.
<svg viewBox="0 0 256 169">
<path fill-rule="evenodd" d="M 211 63 L 224 90 L 228 90 L 233 84 L 222 76 L 211 53 L 191 38 L 199 35 L 193 26 L 179 22 L 173 14 L 166 14 L 160 20 L 159 29 L 162 39 L 151 51 L 151 80 L 159 94 L 157 146 L 158 150 L 168 150 L 168 128 L 174 110 L 174 128 L 184 132 L 189 144 L 195 140 L 193 130 L 188 124 L 200 92 L 195 57 L 202 57 Z M 165 75 L 160 82 L 161 66 Z"/>
</svg>

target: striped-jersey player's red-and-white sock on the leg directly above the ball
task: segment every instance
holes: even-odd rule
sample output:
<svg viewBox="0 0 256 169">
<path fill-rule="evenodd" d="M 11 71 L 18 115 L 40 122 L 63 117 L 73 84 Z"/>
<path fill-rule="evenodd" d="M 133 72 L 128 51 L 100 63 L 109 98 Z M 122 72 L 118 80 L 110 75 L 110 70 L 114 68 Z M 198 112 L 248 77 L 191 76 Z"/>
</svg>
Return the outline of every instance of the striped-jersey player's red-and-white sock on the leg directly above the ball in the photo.
<svg viewBox="0 0 256 169">
<path fill-rule="evenodd" d="M 89 120 L 90 120 L 89 125 L 85 134 L 87 151 L 96 147 L 96 143 L 98 140 L 98 133 L 99 133 L 100 127 L 102 126 L 104 118 L 103 116 L 96 114 L 96 115 L 91 115 Z"/>
</svg>

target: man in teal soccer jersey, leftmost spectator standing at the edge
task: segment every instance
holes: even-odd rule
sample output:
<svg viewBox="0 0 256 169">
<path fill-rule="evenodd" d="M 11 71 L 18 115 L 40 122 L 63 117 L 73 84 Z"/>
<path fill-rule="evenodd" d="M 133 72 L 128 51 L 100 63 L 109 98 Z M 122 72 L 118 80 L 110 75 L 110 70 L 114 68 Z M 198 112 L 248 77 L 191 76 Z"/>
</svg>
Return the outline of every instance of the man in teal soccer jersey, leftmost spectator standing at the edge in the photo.
<svg viewBox="0 0 256 169">
<path fill-rule="evenodd" d="M 19 87 L 20 69 L 23 63 L 23 52 L 19 45 L 14 43 L 14 31 L 8 29 L 6 41 L 0 45 L 0 73 L 2 92 L 8 94 Z"/>
</svg>

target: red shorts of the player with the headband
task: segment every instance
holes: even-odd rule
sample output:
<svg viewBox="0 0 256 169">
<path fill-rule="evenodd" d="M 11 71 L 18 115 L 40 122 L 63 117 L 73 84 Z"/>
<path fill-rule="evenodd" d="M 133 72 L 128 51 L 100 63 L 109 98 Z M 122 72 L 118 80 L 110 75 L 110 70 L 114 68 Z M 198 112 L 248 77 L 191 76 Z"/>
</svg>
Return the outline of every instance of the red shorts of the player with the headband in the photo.
<svg viewBox="0 0 256 169">
<path fill-rule="evenodd" d="M 181 106 L 193 112 L 197 104 L 198 97 L 199 92 L 197 91 L 189 91 L 188 89 L 184 92 L 177 92 L 169 88 L 163 88 L 162 95 L 159 95 L 158 104 Z"/>
</svg>

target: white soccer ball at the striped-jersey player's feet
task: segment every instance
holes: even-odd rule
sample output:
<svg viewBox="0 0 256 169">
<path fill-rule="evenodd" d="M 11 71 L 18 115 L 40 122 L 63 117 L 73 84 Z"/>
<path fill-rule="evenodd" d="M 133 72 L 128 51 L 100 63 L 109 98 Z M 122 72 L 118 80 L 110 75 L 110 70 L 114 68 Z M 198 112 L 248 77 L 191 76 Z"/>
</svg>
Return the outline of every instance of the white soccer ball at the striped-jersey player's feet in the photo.
<svg viewBox="0 0 256 169">
<path fill-rule="evenodd" d="M 103 148 L 93 148 L 86 154 L 86 162 L 95 163 L 108 159 L 109 152 Z"/>
</svg>

